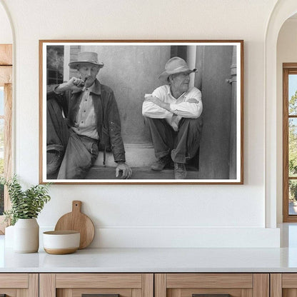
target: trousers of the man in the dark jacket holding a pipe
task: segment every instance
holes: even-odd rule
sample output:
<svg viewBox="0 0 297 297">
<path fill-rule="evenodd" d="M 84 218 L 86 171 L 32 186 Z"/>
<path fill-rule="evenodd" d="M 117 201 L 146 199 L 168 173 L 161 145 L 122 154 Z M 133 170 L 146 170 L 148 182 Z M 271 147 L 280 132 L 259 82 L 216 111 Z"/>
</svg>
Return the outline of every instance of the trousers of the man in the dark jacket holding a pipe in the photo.
<svg viewBox="0 0 297 297">
<path fill-rule="evenodd" d="M 46 146 L 64 151 L 58 179 L 85 178 L 99 154 L 98 140 L 80 136 L 69 128 L 55 99 L 46 104 Z"/>
</svg>

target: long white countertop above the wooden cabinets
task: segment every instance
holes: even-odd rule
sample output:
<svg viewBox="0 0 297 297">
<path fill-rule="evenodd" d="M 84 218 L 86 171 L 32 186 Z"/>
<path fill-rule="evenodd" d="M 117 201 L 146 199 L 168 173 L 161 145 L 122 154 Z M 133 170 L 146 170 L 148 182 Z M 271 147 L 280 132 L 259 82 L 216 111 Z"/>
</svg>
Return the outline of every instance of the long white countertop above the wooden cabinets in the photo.
<svg viewBox="0 0 297 297">
<path fill-rule="evenodd" d="M 86 248 L 14 253 L 0 236 L 0 272 L 297 272 L 297 248 Z"/>
</svg>

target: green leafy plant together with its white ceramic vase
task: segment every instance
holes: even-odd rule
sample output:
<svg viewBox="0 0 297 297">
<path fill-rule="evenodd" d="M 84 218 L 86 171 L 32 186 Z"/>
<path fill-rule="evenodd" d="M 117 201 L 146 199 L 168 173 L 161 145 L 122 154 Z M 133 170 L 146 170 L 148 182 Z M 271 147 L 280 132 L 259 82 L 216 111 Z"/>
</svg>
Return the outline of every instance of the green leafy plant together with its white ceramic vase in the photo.
<svg viewBox="0 0 297 297">
<path fill-rule="evenodd" d="M 1 184 L 7 186 L 11 209 L 4 211 L 6 221 L 14 226 L 14 251 L 17 253 L 35 253 L 39 249 L 39 225 L 37 216 L 51 197 L 49 183 L 36 185 L 23 190 L 16 175 L 1 178 Z"/>
</svg>

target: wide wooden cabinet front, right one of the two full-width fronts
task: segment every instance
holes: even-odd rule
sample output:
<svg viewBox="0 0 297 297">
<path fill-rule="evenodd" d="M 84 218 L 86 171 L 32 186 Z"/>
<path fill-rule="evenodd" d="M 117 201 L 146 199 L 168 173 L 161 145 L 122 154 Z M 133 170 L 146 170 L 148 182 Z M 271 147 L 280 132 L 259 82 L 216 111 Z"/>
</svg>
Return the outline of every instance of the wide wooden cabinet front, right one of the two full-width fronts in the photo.
<svg viewBox="0 0 297 297">
<path fill-rule="evenodd" d="M 269 297 L 268 273 L 158 273 L 155 297 Z"/>
</svg>

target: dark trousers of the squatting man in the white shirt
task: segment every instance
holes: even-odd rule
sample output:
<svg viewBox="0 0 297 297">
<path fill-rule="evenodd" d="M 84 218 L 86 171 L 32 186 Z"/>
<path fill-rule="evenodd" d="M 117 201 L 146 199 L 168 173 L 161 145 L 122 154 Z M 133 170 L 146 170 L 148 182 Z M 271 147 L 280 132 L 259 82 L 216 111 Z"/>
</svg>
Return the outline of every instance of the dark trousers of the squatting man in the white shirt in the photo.
<svg viewBox="0 0 297 297">
<path fill-rule="evenodd" d="M 203 126 L 201 117 L 182 118 L 178 123 L 178 131 L 174 131 L 166 119 L 145 117 L 145 123 L 151 133 L 156 158 L 171 153 L 173 162 L 186 163 L 196 155 Z"/>
</svg>

